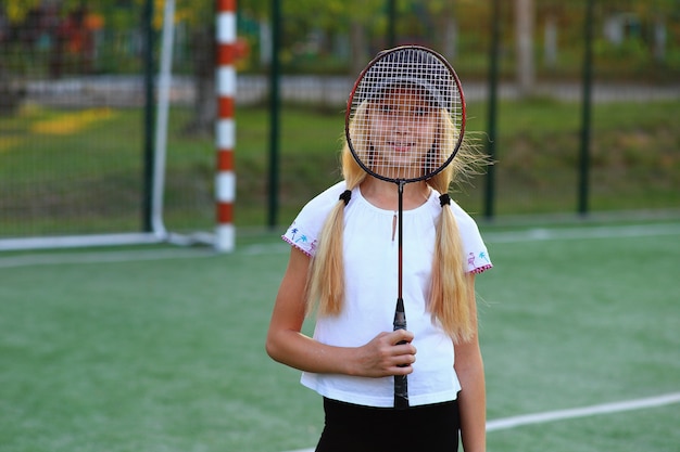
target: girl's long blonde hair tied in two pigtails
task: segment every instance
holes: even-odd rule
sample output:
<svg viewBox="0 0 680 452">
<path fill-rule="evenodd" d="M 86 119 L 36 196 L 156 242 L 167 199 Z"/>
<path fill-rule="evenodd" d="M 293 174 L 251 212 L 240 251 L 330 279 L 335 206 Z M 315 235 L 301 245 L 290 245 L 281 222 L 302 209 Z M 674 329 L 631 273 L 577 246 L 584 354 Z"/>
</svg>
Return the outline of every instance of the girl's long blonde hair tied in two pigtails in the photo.
<svg viewBox="0 0 680 452">
<path fill-rule="evenodd" d="M 366 102 L 367 103 L 367 102 Z M 367 114 L 367 106 L 357 109 L 354 121 L 362 121 Z M 352 127 L 352 125 L 350 125 Z M 442 143 L 455 143 L 456 130 L 442 109 L 439 127 L 444 139 Z M 442 144 L 440 144 L 442 145 Z M 446 144 L 449 145 L 449 144 Z M 448 156 L 451 150 L 442 150 L 436 155 Z M 341 156 L 342 176 L 347 190 L 352 191 L 366 178 L 367 173 L 356 163 L 345 141 Z M 439 173 L 426 182 L 439 193 L 448 193 L 454 177 L 465 176 L 476 164 L 484 158 L 474 145 L 463 143 L 456 157 Z M 443 162 L 436 163 L 440 166 Z M 338 315 L 344 300 L 344 269 L 342 240 L 345 202 L 340 199 L 328 215 L 319 235 L 316 255 L 310 264 L 307 277 L 307 313 L 315 308 L 319 315 Z M 467 264 L 458 225 L 451 206 L 443 205 L 442 214 L 436 225 L 436 246 L 432 259 L 432 277 L 429 290 L 428 311 L 433 321 L 439 321 L 442 328 L 455 343 L 469 340 L 476 331 L 476 319 L 470 312 L 473 287 L 466 275 Z"/>
</svg>

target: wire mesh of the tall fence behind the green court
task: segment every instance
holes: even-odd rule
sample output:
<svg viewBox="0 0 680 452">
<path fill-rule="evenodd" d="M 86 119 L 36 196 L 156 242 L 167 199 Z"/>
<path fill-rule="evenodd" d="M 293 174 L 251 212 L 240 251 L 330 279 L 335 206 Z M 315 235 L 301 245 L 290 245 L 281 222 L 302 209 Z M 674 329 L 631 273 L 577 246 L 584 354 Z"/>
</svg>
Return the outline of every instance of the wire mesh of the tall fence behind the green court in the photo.
<svg viewBox="0 0 680 452">
<path fill-rule="evenodd" d="M 551 8 L 537 2 L 528 87 L 518 75 L 513 2 L 501 3 L 496 212 L 574 212 L 582 127 L 584 2 Z M 21 21 L 11 21 L 0 8 L 0 237 L 146 228 L 146 146 L 153 124 L 146 109 L 147 35 L 140 22 L 144 11 L 139 2 L 122 4 L 116 21 L 106 11 L 65 10 L 60 2 L 45 2 Z M 489 113 L 490 4 L 479 2 L 469 11 L 453 8 L 446 21 L 430 15 L 431 29 L 404 25 L 429 21 L 427 12 L 417 8 L 411 15 L 402 13 L 398 17 L 402 26 L 396 27 L 398 43 L 430 46 L 452 61 L 468 101 L 468 130 L 478 132 L 482 146 Z M 370 55 L 386 42 L 379 29 L 364 28 L 362 49 Z M 240 109 L 266 111 L 266 22 L 242 8 L 239 29 L 248 54 L 239 66 L 237 104 Z M 660 14 L 628 3 L 618 10 L 603 7 L 595 11 L 593 29 L 592 209 L 677 209 L 680 12 Z M 316 114 L 320 105 L 337 115 L 355 78 L 356 62 L 348 50 L 355 40 L 347 30 L 311 25 L 298 24 L 295 30 L 285 28 L 285 33 L 280 80 L 285 107 Z M 211 92 L 212 61 L 197 57 L 192 36 L 191 26 L 179 21 L 163 214 L 175 231 L 211 230 L 214 217 L 213 137 L 210 130 L 201 133 L 192 128 L 200 112 L 211 113 L 210 105 L 200 108 L 197 103 Z M 444 43 L 442 36 L 448 37 Z M 153 50 L 155 60 L 158 43 Z M 238 115 L 237 127 L 248 134 L 243 128 L 252 125 L 240 122 Z M 561 121 L 567 126 L 557 127 Z M 338 132 L 341 129 L 339 122 Z M 262 143 L 266 147 L 266 141 Z M 294 153 L 295 143 L 284 142 L 282 152 Z M 250 192 L 266 191 L 265 175 L 248 173 L 250 159 L 265 154 L 266 148 L 257 156 L 237 151 L 237 222 L 244 205 L 266 209 L 261 199 L 249 197 Z M 294 175 L 299 169 L 284 170 Z M 324 173 L 333 171 L 319 168 Z M 469 210 L 481 212 L 484 176 L 473 183 L 459 197 Z M 295 199 L 294 206 L 288 205 L 291 211 L 300 207 L 298 199 L 322 189 L 302 185 L 300 190 L 306 192 L 291 195 Z M 281 192 L 290 195 L 291 191 Z M 286 199 L 282 206 L 287 207 Z"/>
</svg>

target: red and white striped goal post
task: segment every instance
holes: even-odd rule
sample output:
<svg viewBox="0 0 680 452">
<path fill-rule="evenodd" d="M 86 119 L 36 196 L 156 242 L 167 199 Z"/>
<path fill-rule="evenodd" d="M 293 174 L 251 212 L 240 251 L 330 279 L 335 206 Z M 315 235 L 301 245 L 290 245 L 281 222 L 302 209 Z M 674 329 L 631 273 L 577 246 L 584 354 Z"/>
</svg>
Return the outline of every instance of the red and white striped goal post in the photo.
<svg viewBox="0 0 680 452">
<path fill-rule="evenodd" d="M 217 124 L 215 145 L 217 147 L 217 176 L 215 197 L 217 225 L 215 228 L 215 249 L 230 251 L 236 243 L 234 227 L 234 202 L 236 199 L 236 172 L 234 168 L 234 146 L 236 125 L 234 105 L 236 98 L 236 0 L 216 1 L 217 40 Z"/>
</svg>

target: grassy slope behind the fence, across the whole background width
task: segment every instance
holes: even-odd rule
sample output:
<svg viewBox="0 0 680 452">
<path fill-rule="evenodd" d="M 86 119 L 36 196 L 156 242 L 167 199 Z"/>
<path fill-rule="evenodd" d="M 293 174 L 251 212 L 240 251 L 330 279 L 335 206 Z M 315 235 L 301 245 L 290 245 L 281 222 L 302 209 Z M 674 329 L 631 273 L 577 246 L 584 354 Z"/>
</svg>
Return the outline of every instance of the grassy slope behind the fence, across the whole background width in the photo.
<svg viewBox="0 0 680 452">
<path fill-rule="evenodd" d="M 468 139 L 486 128 L 486 105 L 470 104 Z M 544 99 L 503 102 L 496 142 L 496 212 L 576 210 L 580 109 Z M 641 113 L 643 109 L 643 113 Z M 677 101 L 596 104 L 593 112 L 591 208 L 677 208 L 680 203 L 680 130 Z M 175 109 L 166 171 L 165 217 L 171 229 L 213 224 L 214 144 L 182 133 L 188 112 Z M 75 118 L 75 119 L 74 119 Z M 70 122 L 70 121 L 71 122 Z M 237 112 L 239 227 L 263 225 L 269 208 L 269 117 L 263 108 Z M 80 124 L 81 127 L 74 127 Z M 71 127 L 68 127 L 71 125 Z M 56 127 L 60 126 L 60 127 Z M 61 133 L 60 130 L 71 130 Z M 287 107 L 281 114 L 277 223 L 291 221 L 314 194 L 338 180 L 343 115 Z M 3 223 L 2 235 L 72 230 L 138 230 L 141 116 L 137 111 L 59 112 L 29 107 L 0 119 L 0 206 L 30 224 Z M 482 210 L 483 177 L 456 198 Z M 59 222 L 71 221 L 70 224 Z M 21 229 L 20 228 L 20 229 Z"/>
</svg>

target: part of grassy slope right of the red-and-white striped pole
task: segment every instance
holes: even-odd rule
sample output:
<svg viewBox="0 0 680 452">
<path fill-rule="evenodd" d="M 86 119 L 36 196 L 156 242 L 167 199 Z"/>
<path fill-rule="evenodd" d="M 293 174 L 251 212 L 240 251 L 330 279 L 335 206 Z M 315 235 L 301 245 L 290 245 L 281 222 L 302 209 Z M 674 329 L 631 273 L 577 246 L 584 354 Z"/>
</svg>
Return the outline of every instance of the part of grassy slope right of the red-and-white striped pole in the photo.
<svg viewBox="0 0 680 452">
<path fill-rule="evenodd" d="M 680 104 L 597 104 L 593 112 L 591 208 L 628 210 L 678 207 L 680 196 L 680 132 L 673 118 Z M 536 100 L 500 106 L 496 142 L 496 212 L 537 214 L 576 210 L 580 109 L 578 104 Z M 468 107 L 470 139 L 483 144 L 486 106 Z M 287 223 L 310 196 L 338 176 L 340 113 L 300 117 L 287 111 L 281 125 L 280 223 Z M 240 113 L 237 147 L 241 224 L 264 223 L 267 150 L 263 112 Z M 260 140 L 251 142 L 249 124 L 261 124 Z M 307 140 L 310 138 L 310 140 Z M 254 145 L 251 147 L 251 145 Z M 477 177 L 456 197 L 468 210 L 482 210 L 484 180 Z M 254 193 L 254 195 L 253 195 Z M 265 195 L 266 196 L 266 195 Z M 260 220 L 257 220 L 260 218 Z"/>
</svg>

